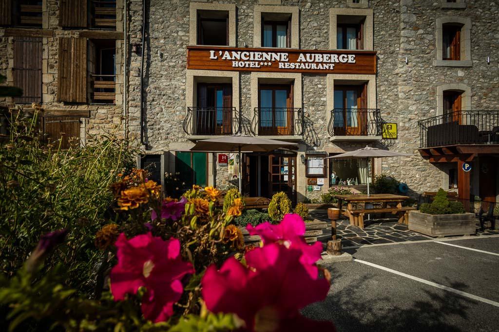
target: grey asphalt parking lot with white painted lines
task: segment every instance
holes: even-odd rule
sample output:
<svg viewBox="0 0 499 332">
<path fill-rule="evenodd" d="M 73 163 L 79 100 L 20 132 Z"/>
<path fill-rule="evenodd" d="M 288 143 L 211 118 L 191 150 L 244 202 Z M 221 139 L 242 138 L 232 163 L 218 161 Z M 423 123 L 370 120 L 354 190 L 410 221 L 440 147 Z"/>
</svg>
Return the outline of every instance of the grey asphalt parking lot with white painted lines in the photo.
<svg viewBox="0 0 499 332">
<path fill-rule="evenodd" d="M 329 295 L 305 316 L 338 331 L 499 331 L 496 235 L 345 251 L 354 260 L 326 265 Z"/>
</svg>

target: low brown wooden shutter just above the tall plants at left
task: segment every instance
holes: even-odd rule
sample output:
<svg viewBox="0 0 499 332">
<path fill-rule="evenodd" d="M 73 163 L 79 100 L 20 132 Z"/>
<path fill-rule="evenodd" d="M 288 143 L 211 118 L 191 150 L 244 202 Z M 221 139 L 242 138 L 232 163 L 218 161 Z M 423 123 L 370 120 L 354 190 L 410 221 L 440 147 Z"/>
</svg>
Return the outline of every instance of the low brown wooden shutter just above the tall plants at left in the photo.
<svg viewBox="0 0 499 332">
<path fill-rule="evenodd" d="M 42 118 L 44 141 L 50 144 L 59 144 L 62 138 L 61 148 L 67 149 L 71 145 L 78 145 L 80 138 L 80 119 L 74 116 L 54 116 Z"/>
</svg>

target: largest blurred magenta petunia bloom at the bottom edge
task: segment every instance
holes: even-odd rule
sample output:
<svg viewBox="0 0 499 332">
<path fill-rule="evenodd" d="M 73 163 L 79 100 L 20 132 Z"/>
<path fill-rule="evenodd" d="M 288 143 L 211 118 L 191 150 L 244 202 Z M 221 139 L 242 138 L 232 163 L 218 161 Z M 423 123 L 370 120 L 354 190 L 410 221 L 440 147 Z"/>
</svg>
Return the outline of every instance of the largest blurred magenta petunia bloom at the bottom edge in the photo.
<svg viewBox="0 0 499 332">
<path fill-rule="evenodd" d="M 244 331 L 335 331 L 330 322 L 311 321 L 299 310 L 325 299 L 329 282 L 312 278 L 299 261 L 300 250 L 271 243 L 246 254 L 248 267 L 230 257 L 217 270 L 208 267 L 201 281 L 207 308 L 233 313 Z"/>
</svg>

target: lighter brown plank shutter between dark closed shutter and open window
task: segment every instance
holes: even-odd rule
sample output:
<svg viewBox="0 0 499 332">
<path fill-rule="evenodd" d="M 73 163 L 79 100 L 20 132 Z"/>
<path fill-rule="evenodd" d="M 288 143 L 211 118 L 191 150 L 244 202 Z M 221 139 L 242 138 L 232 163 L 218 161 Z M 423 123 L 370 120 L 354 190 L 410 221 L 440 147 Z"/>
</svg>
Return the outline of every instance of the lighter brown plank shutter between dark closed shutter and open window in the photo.
<svg viewBox="0 0 499 332">
<path fill-rule="evenodd" d="M 87 40 L 59 38 L 59 102 L 87 101 Z"/>
</svg>

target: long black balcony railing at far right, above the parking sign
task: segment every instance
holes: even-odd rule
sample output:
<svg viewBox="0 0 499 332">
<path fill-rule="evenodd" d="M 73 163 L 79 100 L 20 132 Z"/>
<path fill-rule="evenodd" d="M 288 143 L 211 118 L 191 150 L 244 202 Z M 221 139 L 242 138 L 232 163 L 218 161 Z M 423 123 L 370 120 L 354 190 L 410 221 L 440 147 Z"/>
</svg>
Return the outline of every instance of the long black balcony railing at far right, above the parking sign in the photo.
<svg viewBox="0 0 499 332">
<path fill-rule="evenodd" d="M 499 144 L 499 111 L 454 111 L 418 121 L 420 147 Z"/>
</svg>

